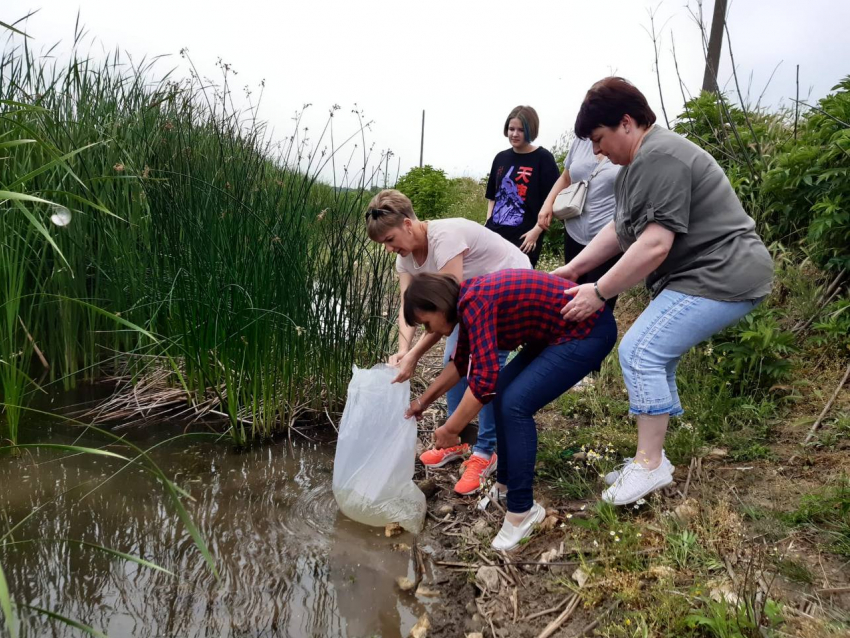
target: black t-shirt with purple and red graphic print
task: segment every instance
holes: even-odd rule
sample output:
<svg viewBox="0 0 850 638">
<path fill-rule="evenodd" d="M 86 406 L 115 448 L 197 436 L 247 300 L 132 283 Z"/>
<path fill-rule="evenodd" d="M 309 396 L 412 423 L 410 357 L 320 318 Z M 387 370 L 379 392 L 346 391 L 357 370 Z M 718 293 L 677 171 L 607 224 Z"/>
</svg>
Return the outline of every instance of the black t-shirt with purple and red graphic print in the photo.
<svg viewBox="0 0 850 638">
<path fill-rule="evenodd" d="M 559 175 L 555 158 L 543 147 L 531 153 L 509 148 L 496 155 L 484 195 L 496 202 L 487 228 L 517 246 L 522 244 L 520 237 L 534 228 L 540 207 Z M 536 264 L 542 245 L 541 236 L 529 255 L 532 265 Z"/>
</svg>

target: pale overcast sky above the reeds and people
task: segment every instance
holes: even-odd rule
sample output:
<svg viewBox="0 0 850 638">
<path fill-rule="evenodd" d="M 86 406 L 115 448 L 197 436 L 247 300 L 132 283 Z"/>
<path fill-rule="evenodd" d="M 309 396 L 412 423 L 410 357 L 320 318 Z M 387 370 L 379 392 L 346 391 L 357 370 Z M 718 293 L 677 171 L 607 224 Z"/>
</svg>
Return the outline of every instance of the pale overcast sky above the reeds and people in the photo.
<svg viewBox="0 0 850 638">
<path fill-rule="evenodd" d="M 797 64 L 801 96 L 813 101 L 850 74 L 850 0 L 729 4 L 739 80 L 753 102 L 780 63 L 763 100 L 774 106 L 794 97 Z M 213 78 L 221 58 L 239 72 L 236 85 L 251 87 L 255 96 L 265 80 L 260 117 L 279 138 L 292 132 L 295 111 L 310 103 L 303 124 L 311 135 L 332 105 L 342 107 L 335 118 L 339 140 L 357 129 L 356 104 L 374 121 L 367 132 L 373 156 L 395 153 L 393 177 L 399 158 L 402 173 L 419 162 L 425 109 L 425 163 L 453 177 L 481 177 L 508 147 L 502 126 L 511 108 L 537 109 L 537 142 L 551 148 L 572 128 L 585 91 L 611 73 L 634 82 L 663 123 L 646 32 L 650 7 L 661 31 L 662 90 L 672 119 L 682 106 L 672 39 L 689 91 L 699 90 L 704 68 L 687 0 L 3 0 L 0 21 L 40 9 L 18 26 L 32 36 L 35 50 L 62 41 L 57 51 L 67 54 L 79 10 L 87 52 L 118 47 L 134 59 L 166 54 L 158 68 L 186 75 L 179 55 L 186 47 L 201 73 Z M 706 0 L 707 22 L 712 7 Z M 690 9 L 697 10 L 695 0 Z M 731 77 L 727 44 L 721 84 Z"/>
</svg>

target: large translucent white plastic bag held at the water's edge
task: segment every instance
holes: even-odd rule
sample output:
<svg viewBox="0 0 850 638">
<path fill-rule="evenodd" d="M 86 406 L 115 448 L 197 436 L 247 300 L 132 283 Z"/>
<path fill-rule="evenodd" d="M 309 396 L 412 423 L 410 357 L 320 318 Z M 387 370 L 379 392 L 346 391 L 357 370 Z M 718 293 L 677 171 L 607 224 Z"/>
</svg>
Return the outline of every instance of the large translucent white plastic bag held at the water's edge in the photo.
<svg viewBox="0 0 850 638">
<path fill-rule="evenodd" d="M 399 523 L 414 534 L 425 521 L 425 495 L 413 482 L 416 419 L 405 419 L 410 383 L 391 383 L 396 368 L 354 366 L 339 426 L 333 490 L 343 514 L 381 527 Z"/>
</svg>

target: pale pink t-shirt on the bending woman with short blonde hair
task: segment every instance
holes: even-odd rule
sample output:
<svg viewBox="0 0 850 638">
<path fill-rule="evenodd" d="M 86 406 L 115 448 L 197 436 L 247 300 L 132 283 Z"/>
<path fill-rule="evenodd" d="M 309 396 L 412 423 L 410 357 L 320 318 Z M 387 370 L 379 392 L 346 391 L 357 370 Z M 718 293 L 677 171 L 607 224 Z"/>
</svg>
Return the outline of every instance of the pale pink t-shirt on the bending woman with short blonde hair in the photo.
<svg viewBox="0 0 850 638">
<path fill-rule="evenodd" d="M 451 259 L 463 255 L 463 279 L 480 277 L 506 268 L 531 268 L 528 256 L 501 235 L 468 219 L 428 222 L 428 256 L 419 265 L 413 253 L 396 257 L 400 273 L 436 273 Z"/>
</svg>

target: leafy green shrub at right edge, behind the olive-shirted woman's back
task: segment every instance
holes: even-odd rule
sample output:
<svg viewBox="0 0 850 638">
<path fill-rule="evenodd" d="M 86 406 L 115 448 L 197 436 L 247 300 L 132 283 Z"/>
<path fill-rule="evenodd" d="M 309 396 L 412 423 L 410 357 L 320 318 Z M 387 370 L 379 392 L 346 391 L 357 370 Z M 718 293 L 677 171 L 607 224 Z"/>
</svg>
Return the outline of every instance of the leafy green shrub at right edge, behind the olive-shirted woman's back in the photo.
<svg viewBox="0 0 850 638">
<path fill-rule="evenodd" d="M 674 130 L 723 167 L 767 242 L 799 244 L 837 271 L 850 265 L 850 77 L 833 91 L 799 118 L 702 93 Z"/>
</svg>

